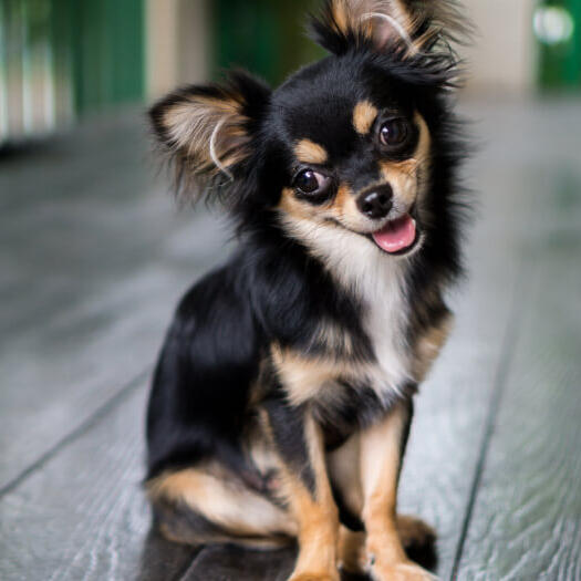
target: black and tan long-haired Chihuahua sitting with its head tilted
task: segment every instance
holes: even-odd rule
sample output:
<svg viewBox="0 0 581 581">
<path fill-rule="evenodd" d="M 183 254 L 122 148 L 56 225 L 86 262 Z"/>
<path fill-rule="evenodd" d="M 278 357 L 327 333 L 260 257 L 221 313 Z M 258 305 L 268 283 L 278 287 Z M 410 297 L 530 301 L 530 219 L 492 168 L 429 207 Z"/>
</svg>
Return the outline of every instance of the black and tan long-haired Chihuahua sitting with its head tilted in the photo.
<svg viewBox="0 0 581 581">
<path fill-rule="evenodd" d="M 396 512 L 413 398 L 452 326 L 466 151 L 454 0 L 328 0 L 329 55 L 151 110 L 179 191 L 238 248 L 181 300 L 155 371 L 146 488 L 175 541 L 297 542 L 291 581 L 432 575 Z"/>
</svg>

